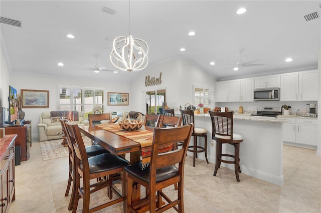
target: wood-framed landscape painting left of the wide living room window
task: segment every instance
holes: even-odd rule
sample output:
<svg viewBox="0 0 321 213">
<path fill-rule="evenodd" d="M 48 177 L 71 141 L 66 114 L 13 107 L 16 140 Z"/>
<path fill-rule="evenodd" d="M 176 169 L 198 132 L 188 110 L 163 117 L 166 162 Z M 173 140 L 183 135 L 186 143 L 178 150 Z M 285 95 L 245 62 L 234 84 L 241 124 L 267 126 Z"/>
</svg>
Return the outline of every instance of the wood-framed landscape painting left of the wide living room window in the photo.
<svg viewBox="0 0 321 213">
<path fill-rule="evenodd" d="M 23 108 L 49 108 L 49 90 L 21 89 Z"/>
</svg>

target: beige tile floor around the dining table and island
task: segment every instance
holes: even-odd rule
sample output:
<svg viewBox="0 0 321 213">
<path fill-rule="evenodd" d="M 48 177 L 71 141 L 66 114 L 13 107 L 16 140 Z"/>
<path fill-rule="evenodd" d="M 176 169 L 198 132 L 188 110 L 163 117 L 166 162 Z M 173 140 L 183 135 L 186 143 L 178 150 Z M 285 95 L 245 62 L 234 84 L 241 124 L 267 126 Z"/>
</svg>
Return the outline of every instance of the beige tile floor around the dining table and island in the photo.
<svg viewBox="0 0 321 213">
<path fill-rule="evenodd" d="M 67 157 L 42 161 L 38 141 L 30 151 L 30 159 L 16 166 L 16 200 L 9 212 L 62 212 L 56 210 L 53 191 L 68 179 Z M 234 171 L 224 167 L 213 176 L 213 163 L 197 160 L 193 167 L 192 160 L 187 156 L 185 194 L 197 196 L 198 205 L 211 203 L 224 212 L 321 212 L 321 157 L 315 150 L 284 145 L 283 186 L 242 173 L 237 182 Z"/>
</svg>

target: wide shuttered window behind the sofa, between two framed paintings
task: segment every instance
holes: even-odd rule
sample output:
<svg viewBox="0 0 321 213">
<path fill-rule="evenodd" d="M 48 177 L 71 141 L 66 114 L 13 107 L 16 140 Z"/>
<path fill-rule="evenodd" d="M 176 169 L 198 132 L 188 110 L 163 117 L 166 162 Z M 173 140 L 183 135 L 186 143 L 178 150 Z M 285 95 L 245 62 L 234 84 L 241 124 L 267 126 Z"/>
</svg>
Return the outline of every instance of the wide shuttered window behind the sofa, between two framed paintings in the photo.
<svg viewBox="0 0 321 213">
<path fill-rule="evenodd" d="M 94 104 L 101 104 L 104 111 L 104 91 L 95 88 L 60 87 L 59 108 L 60 110 L 82 111 L 85 118 L 93 113 Z"/>
</svg>

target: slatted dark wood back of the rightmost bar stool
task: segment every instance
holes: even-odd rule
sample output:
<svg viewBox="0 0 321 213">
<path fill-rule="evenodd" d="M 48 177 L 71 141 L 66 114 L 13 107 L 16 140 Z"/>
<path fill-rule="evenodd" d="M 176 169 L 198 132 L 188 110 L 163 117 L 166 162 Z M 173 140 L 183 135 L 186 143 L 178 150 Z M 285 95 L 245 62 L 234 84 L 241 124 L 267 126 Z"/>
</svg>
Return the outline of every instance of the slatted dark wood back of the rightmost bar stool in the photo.
<svg viewBox="0 0 321 213">
<path fill-rule="evenodd" d="M 215 135 L 225 136 L 226 139 L 220 137 L 223 142 L 232 143 L 233 141 L 233 111 L 216 112 L 209 111 L 212 121 L 212 137 L 217 139 Z"/>
</svg>

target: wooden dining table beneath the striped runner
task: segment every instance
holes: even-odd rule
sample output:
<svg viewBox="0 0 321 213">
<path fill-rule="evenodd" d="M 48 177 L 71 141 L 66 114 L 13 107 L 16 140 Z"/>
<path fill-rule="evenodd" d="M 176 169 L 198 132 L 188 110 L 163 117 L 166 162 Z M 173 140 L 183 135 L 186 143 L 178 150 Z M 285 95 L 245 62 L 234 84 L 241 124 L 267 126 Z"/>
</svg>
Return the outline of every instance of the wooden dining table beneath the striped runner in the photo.
<svg viewBox="0 0 321 213">
<path fill-rule="evenodd" d="M 130 164 L 140 161 L 141 147 L 138 142 L 107 131 L 96 125 L 79 126 L 79 129 L 80 132 L 88 136 L 91 140 L 94 140 L 115 155 L 124 157 L 126 153 L 130 153 Z M 143 125 L 140 129 L 153 131 L 154 127 Z M 140 199 L 140 185 L 134 185 L 132 193 L 132 203 L 135 203 Z"/>
</svg>

